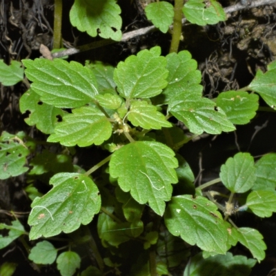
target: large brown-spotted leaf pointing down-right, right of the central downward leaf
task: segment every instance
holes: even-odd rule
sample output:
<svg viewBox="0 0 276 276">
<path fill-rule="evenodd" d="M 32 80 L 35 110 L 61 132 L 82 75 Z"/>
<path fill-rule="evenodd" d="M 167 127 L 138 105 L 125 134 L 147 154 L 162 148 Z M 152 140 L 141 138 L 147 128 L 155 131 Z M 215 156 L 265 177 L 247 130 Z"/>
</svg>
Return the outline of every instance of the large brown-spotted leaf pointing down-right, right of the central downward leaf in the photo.
<svg viewBox="0 0 276 276">
<path fill-rule="evenodd" d="M 224 219 L 217 206 L 206 197 L 172 197 L 164 219 L 170 233 L 180 235 L 188 244 L 197 244 L 201 250 L 212 253 L 226 253 L 228 235 Z"/>
</svg>

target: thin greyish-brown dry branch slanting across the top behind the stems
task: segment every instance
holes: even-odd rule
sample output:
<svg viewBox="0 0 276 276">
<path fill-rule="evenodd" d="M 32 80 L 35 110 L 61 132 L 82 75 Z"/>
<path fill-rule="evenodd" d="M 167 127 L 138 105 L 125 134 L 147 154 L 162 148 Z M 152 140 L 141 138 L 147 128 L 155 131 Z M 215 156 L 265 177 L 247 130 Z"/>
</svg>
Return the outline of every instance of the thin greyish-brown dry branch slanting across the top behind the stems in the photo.
<svg viewBox="0 0 276 276">
<path fill-rule="evenodd" d="M 226 12 L 227 17 L 230 17 L 230 13 L 231 12 L 237 12 L 238 10 L 248 10 L 250 8 L 256 8 L 259 6 L 264 6 L 264 5 L 270 5 L 276 3 L 276 0 L 255 0 L 252 1 L 251 3 L 249 3 L 247 6 L 243 6 L 240 3 L 237 3 L 236 5 L 224 8 L 224 12 Z M 182 19 L 182 24 L 186 22 L 186 19 Z M 158 30 L 155 26 L 149 26 L 146 28 L 141 28 L 138 30 L 132 30 L 132 32 L 126 32 L 125 34 L 123 34 L 123 37 L 121 39 L 121 41 L 119 42 L 126 42 L 129 39 L 132 39 L 133 37 L 139 37 L 140 35 L 144 35 L 144 34 L 148 34 L 150 32 L 155 32 L 156 30 Z M 112 39 L 103 39 L 100 41 L 96 41 L 96 42 L 92 42 L 92 43 L 88 43 L 86 45 L 83 46 L 79 46 L 77 48 L 69 48 L 66 50 L 63 50 L 61 52 L 55 52 L 54 54 L 52 54 L 52 57 L 63 57 L 66 55 L 74 55 L 77 54 L 78 52 L 84 52 L 87 50 L 92 50 L 95 48 L 99 48 L 102 46 L 106 46 L 108 44 L 112 44 L 112 43 L 117 43 L 118 41 L 114 41 Z"/>
</svg>

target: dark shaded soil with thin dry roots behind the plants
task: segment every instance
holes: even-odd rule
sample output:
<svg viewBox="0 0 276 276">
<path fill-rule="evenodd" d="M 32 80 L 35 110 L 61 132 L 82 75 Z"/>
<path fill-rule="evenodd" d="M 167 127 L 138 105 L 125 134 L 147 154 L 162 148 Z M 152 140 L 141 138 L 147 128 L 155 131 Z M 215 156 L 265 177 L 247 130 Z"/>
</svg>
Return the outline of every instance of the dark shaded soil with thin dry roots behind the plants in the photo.
<svg viewBox="0 0 276 276">
<path fill-rule="evenodd" d="M 136 0 L 137 2 L 138 0 Z M 97 39 L 92 39 L 75 28 L 71 28 L 68 12 L 72 0 L 63 1 L 63 43 L 66 47 L 80 46 Z M 221 1 L 224 7 L 235 1 Z M 142 4 L 142 3 L 140 3 Z M 130 31 L 150 26 L 146 21 L 141 5 L 135 1 L 121 0 L 123 30 Z M 186 24 L 183 28 L 184 41 L 179 50 L 189 50 L 193 58 L 198 61 L 203 75 L 204 93 L 206 97 L 217 97 L 218 92 L 236 90 L 247 86 L 253 79 L 258 68 L 266 70 L 266 64 L 276 57 L 276 6 L 262 6 L 260 8 L 245 9 L 234 12 L 226 23 L 215 26 L 199 27 Z M 6 1 L 0 3 L 0 59 L 10 63 L 12 59 L 21 60 L 39 57 L 41 43 L 51 49 L 53 28 L 53 0 L 34 1 Z M 170 34 L 152 32 L 142 37 L 131 39 L 127 43 L 115 43 L 95 50 L 82 52 L 70 57 L 84 63 L 86 59 L 99 60 L 116 65 L 139 50 L 159 45 L 162 54 L 168 54 Z M 0 131 L 16 133 L 23 130 L 34 139 L 44 139 L 43 135 L 27 126 L 23 119 L 28 115 L 19 112 L 19 98 L 26 91 L 22 83 L 12 87 L 1 86 L 0 96 Z M 264 155 L 276 150 L 276 116 L 265 112 L 258 112 L 255 119 L 246 126 L 239 126 L 237 132 L 230 134 L 205 135 L 198 141 L 181 149 L 181 154 L 193 168 L 197 177 L 197 184 L 217 177 L 219 166 L 239 150 L 248 151 L 253 156 Z M 87 154 L 97 155 L 88 164 Z M 96 152 L 96 153 L 95 153 Z M 97 164 L 103 153 L 98 148 L 90 150 L 79 149 L 77 157 L 79 165 L 90 168 Z M 199 173 L 200 172 L 200 173 Z M 0 208 L 3 210 L 30 210 L 30 201 L 23 193 L 25 177 L 14 177 L 7 181 L 0 181 Z M 41 187 L 41 190 L 47 188 Z M 26 224 L 27 217 L 21 221 Z M 0 221 L 8 223 L 9 217 L 0 213 Z M 257 265 L 252 275 L 268 275 L 276 264 L 275 248 L 275 216 L 270 219 L 254 219 L 250 215 L 236 217 L 239 226 L 243 224 L 258 228 L 264 235 L 268 250 L 263 264 Z M 26 229 L 28 226 L 26 224 Z M 235 252 L 250 257 L 244 248 L 235 248 Z M 39 268 L 32 267 L 28 256 L 19 241 L 13 242 L 8 248 L 0 250 L 0 264 L 3 261 L 20 262 L 17 274 L 27 271 L 28 275 L 37 275 Z M 20 261 L 19 261 L 20 259 Z M 23 269 L 23 270 L 22 270 Z M 54 267 L 40 268 L 41 275 L 56 275 Z M 177 271 L 175 272 L 177 275 Z M 16 274 L 16 275 L 17 275 Z M 180 275 L 180 274 L 179 274 Z"/>
</svg>

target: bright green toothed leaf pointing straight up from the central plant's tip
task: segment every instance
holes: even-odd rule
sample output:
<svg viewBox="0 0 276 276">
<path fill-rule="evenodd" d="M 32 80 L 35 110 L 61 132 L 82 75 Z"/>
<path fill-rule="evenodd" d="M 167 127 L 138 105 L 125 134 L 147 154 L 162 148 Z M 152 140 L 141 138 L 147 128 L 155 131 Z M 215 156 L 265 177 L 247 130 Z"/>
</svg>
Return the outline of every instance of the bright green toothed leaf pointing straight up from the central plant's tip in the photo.
<svg viewBox="0 0 276 276">
<path fill-rule="evenodd" d="M 159 57 L 159 46 L 141 50 L 137 56 L 120 61 L 114 72 L 119 94 L 126 99 L 150 98 L 159 95 L 166 87 L 168 70 L 166 58 Z"/>
</svg>

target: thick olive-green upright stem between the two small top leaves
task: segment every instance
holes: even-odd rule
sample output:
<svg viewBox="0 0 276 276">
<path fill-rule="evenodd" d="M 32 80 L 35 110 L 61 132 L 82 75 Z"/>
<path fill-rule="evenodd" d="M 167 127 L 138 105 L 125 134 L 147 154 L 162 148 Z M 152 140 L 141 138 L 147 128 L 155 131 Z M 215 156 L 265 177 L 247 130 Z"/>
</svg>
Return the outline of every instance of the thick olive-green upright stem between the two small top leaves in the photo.
<svg viewBox="0 0 276 276">
<path fill-rule="evenodd" d="M 173 17 L 172 42 L 170 43 L 170 52 L 178 52 L 179 41 L 182 31 L 182 8 L 184 0 L 175 0 L 175 16 Z"/>
</svg>

